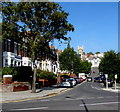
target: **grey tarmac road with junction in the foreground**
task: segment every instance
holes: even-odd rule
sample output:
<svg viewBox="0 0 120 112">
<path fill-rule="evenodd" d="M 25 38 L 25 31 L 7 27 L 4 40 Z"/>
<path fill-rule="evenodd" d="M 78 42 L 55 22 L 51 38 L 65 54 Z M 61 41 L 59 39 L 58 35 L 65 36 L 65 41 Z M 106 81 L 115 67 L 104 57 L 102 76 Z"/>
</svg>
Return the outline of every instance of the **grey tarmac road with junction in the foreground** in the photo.
<svg viewBox="0 0 120 112">
<path fill-rule="evenodd" d="M 92 75 L 96 76 L 97 73 Z M 57 110 L 83 110 L 84 112 L 91 112 L 92 110 L 111 110 L 118 112 L 118 105 L 120 105 L 118 93 L 98 90 L 95 87 L 101 88 L 102 86 L 100 83 L 85 81 L 56 96 L 4 103 L 2 107 L 3 111 L 44 112 L 43 110 L 55 110 L 57 112 Z"/>
</svg>

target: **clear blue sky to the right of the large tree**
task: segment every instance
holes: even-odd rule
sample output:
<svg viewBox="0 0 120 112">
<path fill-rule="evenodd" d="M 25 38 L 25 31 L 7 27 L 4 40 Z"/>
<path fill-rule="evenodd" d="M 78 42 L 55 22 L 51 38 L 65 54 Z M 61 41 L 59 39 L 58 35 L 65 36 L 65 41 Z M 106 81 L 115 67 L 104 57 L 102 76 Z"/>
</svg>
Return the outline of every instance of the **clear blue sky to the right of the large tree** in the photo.
<svg viewBox="0 0 120 112">
<path fill-rule="evenodd" d="M 118 3 L 117 2 L 60 2 L 69 13 L 68 21 L 75 31 L 68 33 L 71 47 L 83 46 L 84 52 L 118 51 Z M 57 47 L 58 44 L 55 43 Z M 59 49 L 66 48 L 61 45 Z"/>
</svg>

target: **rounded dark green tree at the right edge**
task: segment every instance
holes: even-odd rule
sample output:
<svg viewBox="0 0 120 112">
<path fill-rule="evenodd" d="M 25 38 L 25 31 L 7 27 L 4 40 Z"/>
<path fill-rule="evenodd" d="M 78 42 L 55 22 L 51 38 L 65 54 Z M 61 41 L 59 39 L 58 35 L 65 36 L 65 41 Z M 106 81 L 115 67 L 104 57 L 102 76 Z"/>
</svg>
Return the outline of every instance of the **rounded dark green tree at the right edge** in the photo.
<svg viewBox="0 0 120 112">
<path fill-rule="evenodd" d="M 116 66 L 117 64 L 117 66 Z M 104 74 L 108 74 L 109 77 L 114 77 L 117 73 L 117 68 L 120 63 L 117 60 L 117 54 L 115 51 L 110 50 L 104 53 L 104 57 L 101 59 L 99 70 Z"/>
</svg>

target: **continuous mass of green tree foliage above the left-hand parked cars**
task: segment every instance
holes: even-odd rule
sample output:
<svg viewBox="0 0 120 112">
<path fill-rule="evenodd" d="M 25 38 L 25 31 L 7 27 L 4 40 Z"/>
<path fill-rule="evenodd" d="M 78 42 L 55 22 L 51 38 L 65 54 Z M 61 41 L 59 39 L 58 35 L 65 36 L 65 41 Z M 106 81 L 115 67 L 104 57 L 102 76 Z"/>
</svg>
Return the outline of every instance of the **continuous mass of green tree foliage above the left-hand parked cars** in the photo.
<svg viewBox="0 0 120 112">
<path fill-rule="evenodd" d="M 70 46 L 60 54 L 59 59 L 61 70 L 68 70 L 75 74 L 80 72 L 89 73 L 91 70 L 92 64 L 88 61 L 81 61 L 77 53 Z"/>
</svg>

